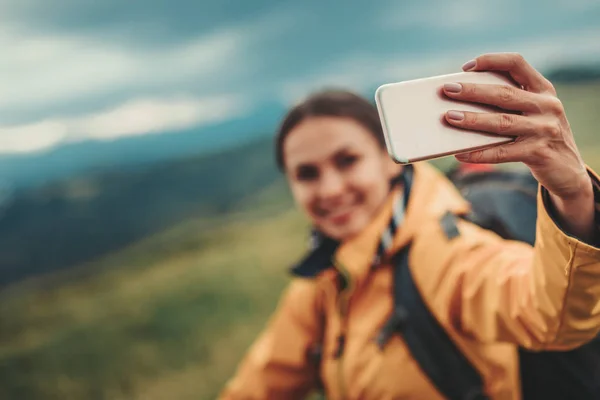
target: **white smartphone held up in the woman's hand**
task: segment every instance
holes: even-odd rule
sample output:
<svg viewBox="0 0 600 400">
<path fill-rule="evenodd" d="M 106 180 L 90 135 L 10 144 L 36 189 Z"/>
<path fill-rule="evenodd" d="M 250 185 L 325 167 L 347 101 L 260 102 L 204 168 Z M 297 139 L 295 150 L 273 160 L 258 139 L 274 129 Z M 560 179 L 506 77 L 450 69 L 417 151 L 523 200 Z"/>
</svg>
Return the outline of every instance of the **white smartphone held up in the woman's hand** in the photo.
<svg viewBox="0 0 600 400">
<path fill-rule="evenodd" d="M 514 137 L 467 131 L 450 125 L 445 119 L 449 110 L 515 113 L 451 99 L 442 90 L 444 84 L 450 82 L 519 87 L 510 77 L 491 71 L 459 72 L 378 87 L 375 102 L 388 153 L 396 163 L 432 160 L 514 141 Z"/>
</svg>

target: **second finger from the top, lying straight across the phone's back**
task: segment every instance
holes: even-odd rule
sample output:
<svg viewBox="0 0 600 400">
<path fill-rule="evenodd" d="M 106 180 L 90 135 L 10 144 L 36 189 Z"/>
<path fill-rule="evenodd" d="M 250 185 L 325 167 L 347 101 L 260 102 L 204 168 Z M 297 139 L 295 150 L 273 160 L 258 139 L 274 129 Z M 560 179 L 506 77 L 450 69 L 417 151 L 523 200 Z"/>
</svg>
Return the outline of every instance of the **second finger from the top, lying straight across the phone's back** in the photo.
<svg viewBox="0 0 600 400">
<path fill-rule="evenodd" d="M 444 93 L 453 99 L 489 104 L 505 110 L 541 113 L 553 107 L 550 96 L 527 92 L 508 85 L 447 83 Z"/>
</svg>

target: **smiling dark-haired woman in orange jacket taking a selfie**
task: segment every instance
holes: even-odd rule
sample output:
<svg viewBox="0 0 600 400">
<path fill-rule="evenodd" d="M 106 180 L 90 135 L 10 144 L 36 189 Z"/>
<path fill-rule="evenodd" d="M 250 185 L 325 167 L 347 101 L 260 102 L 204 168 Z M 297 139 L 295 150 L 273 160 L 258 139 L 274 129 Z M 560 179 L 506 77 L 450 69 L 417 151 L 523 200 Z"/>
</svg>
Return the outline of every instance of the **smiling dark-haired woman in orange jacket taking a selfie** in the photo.
<svg viewBox="0 0 600 400">
<path fill-rule="evenodd" d="M 586 360 L 565 370 L 562 358 L 560 375 L 537 359 L 543 382 L 560 389 L 542 397 L 598 398 L 600 349 L 581 346 L 600 347 L 600 179 L 554 88 L 522 57 L 488 54 L 463 68 L 506 71 L 523 87 L 499 96 L 464 84 L 446 94 L 523 111 L 510 120 L 522 135 L 512 147 L 466 159 L 521 161 L 533 172 L 534 245 L 457 218 L 470 204 L 428 164 L 394 164 L 366 100 L 310 96 L 284 119 L 276 156 L 316 240 L 222 399 L 301 399 L 320 386 L 331 399 L 529 400 L 539 392 L 525 390 L 533 380 L 521 366 L 531 358 L 521 352 L 579 348 Z M 491 114 L 451 117 L 462 128 L 506 128 Z"/>
</svg>

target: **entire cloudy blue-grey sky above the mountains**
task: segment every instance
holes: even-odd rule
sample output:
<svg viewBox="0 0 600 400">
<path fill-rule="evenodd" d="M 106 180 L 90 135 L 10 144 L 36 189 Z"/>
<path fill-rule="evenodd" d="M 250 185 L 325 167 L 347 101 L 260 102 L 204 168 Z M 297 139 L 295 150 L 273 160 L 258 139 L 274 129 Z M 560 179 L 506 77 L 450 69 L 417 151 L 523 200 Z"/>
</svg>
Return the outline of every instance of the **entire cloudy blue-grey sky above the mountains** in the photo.
<svg viewBox="0 0 600 400">
<path fill-rule="evenodd" d="M 0 154 L 201 132 L 488 51 L 600 62 L 598 21 L 600 0 L 0 0 Z"/>
</svg>

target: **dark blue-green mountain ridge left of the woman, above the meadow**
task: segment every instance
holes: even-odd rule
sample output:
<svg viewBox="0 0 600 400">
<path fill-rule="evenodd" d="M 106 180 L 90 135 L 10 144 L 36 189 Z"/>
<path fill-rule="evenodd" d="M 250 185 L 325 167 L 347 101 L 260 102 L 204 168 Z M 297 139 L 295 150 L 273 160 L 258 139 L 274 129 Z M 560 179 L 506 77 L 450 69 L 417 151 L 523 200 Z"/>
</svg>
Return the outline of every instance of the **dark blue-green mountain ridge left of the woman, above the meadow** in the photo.
<svg viewBox="0 0 600 400">
<path fill-rule="evenodd" d="M 218 217 L 282 182 L 271 141 L 17 190 L 0 215 L 0 286 L 110 253 L 182 221 Z"/>
</svg>

